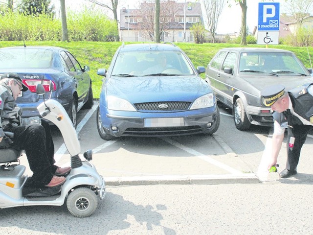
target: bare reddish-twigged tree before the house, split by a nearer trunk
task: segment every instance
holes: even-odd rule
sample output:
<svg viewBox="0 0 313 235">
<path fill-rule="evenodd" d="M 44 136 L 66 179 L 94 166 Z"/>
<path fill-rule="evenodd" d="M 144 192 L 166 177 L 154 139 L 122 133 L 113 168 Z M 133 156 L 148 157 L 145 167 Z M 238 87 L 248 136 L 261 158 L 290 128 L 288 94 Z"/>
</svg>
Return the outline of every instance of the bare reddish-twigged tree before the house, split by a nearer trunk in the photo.
<svg viewBox="0 0 313 235">
<path fill-rule="evenodd" d="M 159 37 L 167 32 L 175 23 L 175 15 L 178 12 L 178 5 L 173 0 L 160 0 L 159 14 Z M 134 28 L 139 30 L 141 35 L 151 41 L 155 40 L 155 0 L 145 0 L 140 3 L 136 10 L 139 16 Z"/>
</svg>

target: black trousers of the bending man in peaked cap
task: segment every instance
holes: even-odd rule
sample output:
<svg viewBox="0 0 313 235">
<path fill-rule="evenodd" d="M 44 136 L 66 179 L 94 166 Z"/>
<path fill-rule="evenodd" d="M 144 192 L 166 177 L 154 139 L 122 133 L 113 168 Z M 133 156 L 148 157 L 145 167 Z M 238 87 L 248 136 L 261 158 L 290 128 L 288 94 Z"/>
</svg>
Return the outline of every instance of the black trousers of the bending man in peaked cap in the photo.
<svg viewBox="0 0 313 235">
<path fill-rule="evenodd" d="M 287 164 L 287 169 L 295 170 L 297 168 L 301 148 L 311 130 L 313 130 L 313 126 L 309 125 L 293 125 L 293 127 L 288 127 L 287 156 L 289 166 Z M 294 137 L 294 144 L 293 147 L 290 148 L 289 141 L 292 135 Z"/>
</svg>

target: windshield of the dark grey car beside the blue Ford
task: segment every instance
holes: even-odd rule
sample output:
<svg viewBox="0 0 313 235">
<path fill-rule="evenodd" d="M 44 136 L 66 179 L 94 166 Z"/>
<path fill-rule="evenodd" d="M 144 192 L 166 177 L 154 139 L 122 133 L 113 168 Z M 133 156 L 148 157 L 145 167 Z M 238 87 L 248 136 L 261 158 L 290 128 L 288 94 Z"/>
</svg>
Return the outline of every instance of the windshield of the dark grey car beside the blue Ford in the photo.
<svg viewBox="0 0 313 235">
<path fill-rule="evenodd" d="M 301 63 L 287 52 L 243 52 L 239 60 L 240 73 L 275 73 L 307 75 Z"/>
</svg>

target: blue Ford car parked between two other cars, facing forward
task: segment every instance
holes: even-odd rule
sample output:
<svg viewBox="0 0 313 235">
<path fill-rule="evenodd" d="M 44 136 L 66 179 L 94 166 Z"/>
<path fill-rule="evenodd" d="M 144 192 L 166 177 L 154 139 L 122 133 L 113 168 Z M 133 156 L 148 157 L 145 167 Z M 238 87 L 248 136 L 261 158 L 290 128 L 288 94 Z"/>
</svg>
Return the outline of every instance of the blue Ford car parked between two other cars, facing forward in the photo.
<svg viewBox="0 0 313 235">
<path fill-rule="evenodd" d="M 97 128 L 104 140 L 122 136 L 211 135 L 220 113 L 211 87 L 174 44 L 122 45 L 104 76 Z"/>
</svg>

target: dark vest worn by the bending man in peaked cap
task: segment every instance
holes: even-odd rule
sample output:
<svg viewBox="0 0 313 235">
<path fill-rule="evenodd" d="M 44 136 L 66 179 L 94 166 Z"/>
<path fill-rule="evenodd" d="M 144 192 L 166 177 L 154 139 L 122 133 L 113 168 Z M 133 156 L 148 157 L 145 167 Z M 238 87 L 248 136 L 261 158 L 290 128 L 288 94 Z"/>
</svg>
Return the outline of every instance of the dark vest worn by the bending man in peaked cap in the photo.
<svg viewBox="0 0 313 235">
<path fill-rule="evenodd" d="M 308 88 L 311 85 L 313 85 L 313 83 L 307 83 L 288 92 L 293 111 L 308 121 L 310 121 L 310 117 L 313 116 L 313 95 L 308 93 Z M 284 113 L 273 112 L 273 118 L 279 124 L 287 121 Z M 303 123 L 299 118 L 292 115 L 292 125 L 303 125 Z"/>
</svg>

